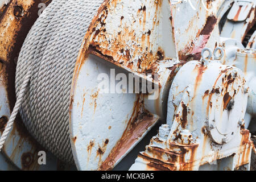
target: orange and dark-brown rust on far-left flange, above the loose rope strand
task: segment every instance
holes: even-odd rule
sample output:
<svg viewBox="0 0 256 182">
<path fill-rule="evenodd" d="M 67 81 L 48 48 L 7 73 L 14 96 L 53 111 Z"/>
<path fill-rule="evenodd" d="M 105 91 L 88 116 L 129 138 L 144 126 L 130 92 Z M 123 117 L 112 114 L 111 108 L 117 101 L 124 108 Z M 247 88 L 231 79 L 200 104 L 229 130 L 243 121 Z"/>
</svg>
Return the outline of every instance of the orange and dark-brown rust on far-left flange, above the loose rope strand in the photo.
<svg viewBox="0 0 256 182">
<path fill-rule="evenodd" d="M 46 1 L 46 6 L 51 1 Z M 6 67 L 6 85 L 10 109 L 15 104 L 15 68 L 20 48 L 23 45 L 28 31 L 38 18 L 38 5 L 40 0 L 34 1 L 10 1 L 0 11 L 0 60 Z"/>
</svg>

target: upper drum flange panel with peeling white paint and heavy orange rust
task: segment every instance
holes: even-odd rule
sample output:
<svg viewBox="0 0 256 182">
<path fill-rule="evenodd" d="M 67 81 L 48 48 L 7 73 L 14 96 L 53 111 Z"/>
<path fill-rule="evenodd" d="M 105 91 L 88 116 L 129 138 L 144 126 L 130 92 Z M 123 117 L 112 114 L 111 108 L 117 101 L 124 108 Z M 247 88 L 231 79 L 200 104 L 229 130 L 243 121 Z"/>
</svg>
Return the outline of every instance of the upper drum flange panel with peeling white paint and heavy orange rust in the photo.
<svg viewBox="0 0 256 182">
<path fill-rule="evenodd" d="M 159 60 L 174 59 L 176 46 L 168 7 L 168 1 L 105 1 L 83 47 L 140 73 Z"/>
</svg>

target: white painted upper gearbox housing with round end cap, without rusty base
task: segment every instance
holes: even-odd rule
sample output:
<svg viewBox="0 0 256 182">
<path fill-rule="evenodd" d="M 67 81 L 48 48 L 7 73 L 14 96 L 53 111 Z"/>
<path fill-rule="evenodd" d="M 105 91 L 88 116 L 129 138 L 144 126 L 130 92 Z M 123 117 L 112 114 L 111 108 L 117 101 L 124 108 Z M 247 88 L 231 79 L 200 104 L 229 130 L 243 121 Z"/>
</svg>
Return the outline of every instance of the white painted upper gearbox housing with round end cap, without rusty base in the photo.
<svg viewBox="0 0 256 182">
<path fill-rule="evenodd" d="M 240 85 L 243 85 L 242 78 L 236 78 L 236 74 L 239 77 L 242 76 L 242 73 L 234 68 L 223 66 L 217 61 L 210 61 L 207 67 L 201 67 L 202 70 L 199 67 L 198 63 L 191 61 L 181 68 L 175 77 L 168 101 L 167 124 L 174 127 L 173 119 L 176 114 L 181 114 L 179 105 L 183 101 L 185 105 L 192 107 L 189 109 L 191 115 L 188 118 L 196 125 L 189 126 L 189 130 L 193 131 L 195 138 L 201 135 L 201 131 L 198 130 L 201 128 L 201 122 L 208 122 L 209 127 L 213 126 L 210 135 L 216 143 L 222 144 L 224 140 L 229 142 L 239 131 L 237 123 L 242 121 L 246 109 L 247 98 L 243 96 L 243 90 L 239 88 Z M 220 73 L 225 69 L 230 69 L 230 71 Z M 188 72 L 189 78 L 186 76 Z M 202 72 L 203 75 L 200 80 L 199 72 Z M 226 80 L 229 74 L 232 78 L 237 79 L 237 82 L 232 86 L 224 86 L 222 78 Z M 224 91 L 222 88 L 227 90 Z M 210 96 L 214 89 L 218 89 L 219 93 Z M 205 92 L 209 92 L 209 95 Z M 224 108 L 226 93 L 229 93 L 231 97 L 235 96 L 232 98 L 234 103 L 232 111 Z M 196 129 L 197 131 L 195 131 Z"/>
</svg>

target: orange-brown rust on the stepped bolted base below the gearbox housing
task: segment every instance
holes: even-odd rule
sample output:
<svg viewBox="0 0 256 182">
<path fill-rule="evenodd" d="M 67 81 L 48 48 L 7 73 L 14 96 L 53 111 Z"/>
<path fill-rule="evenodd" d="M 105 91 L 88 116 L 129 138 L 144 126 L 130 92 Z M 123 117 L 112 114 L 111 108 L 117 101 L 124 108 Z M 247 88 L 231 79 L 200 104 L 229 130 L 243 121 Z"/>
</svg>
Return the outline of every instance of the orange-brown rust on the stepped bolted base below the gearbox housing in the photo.
<svg viewBox="0 0 256 182">
<path fill-rule="evenodd" d="M 207 147 L 208 143 L 208 135 L 207 129 L 204 126 L 202 128 L 202 133 L 204 135 L 204 142 L 202 146 L 202 156 L 200 166 L 205 164 L 204 157 L 205 157 L 205 148 Z M 237 161 L 236 168 L 247 164 L 250 162 L 250 151 L 253 145 L 253 142 L 250 140 L 249 130 L 242 129 L 241 130 L 241 144 L 240 150 L 238 153 L 239 159 Z M 157 139 L 152 139 L 155 142 L 158 142 Z M 151 143 L 152 143 L 151 140 Z M 147 146 L 146 151 L 142 152 L 138 155 L 139 158 L 146 163 L 146 169 L 151 171 L 192 171 L 195 167 L 196 159 L 196 151 L 198 148 L 198 144 L 190 144 L 190 145 L 182 145 L 177 143 L 170 143 L 168 149 L 162 149 L 158 147 L 151 147 Z M 180 150 L 177 150 L 177 149 Z M 176 152 L 174 152 L 176 151 Z M 220 159 L 221 156 L 218 154 L 219 151 L 216 152 L 215 159 Z M 234 156 L 236 154 L 233 154 Z M 186 158 L 185 158 L 186 156 Z"/>
</svg>

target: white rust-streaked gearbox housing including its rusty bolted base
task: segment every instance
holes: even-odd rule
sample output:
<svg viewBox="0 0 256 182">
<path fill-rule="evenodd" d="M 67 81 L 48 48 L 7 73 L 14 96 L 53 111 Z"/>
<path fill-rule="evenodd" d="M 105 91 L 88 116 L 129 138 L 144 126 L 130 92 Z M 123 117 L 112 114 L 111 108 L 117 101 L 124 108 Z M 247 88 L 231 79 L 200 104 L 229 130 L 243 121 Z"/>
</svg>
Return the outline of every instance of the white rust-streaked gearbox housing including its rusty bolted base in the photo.
<svg viewBox="0 0 256 182">
<path fill-rule="evenodd" d="M 198 170 L 223 158 L 226 161 L 221 164 L 222 169 L 233 170 L 244 164 L 240 161 L 242 151 L 248 151 L 250 158 L 251 142 L 240 149 L 248 96 L 243 73 L 217 61 L 205 64 L 190 61 L 177 73 L 168 100 L 167 125 L 160 127 L 159 134 L 151 139 L 130 170 L 155 170 L 159 166 Z M 187 152 L 184 154 L 181 148 Z M 164 152 L 156 155 L 152 150 Z"/>
</svg>

